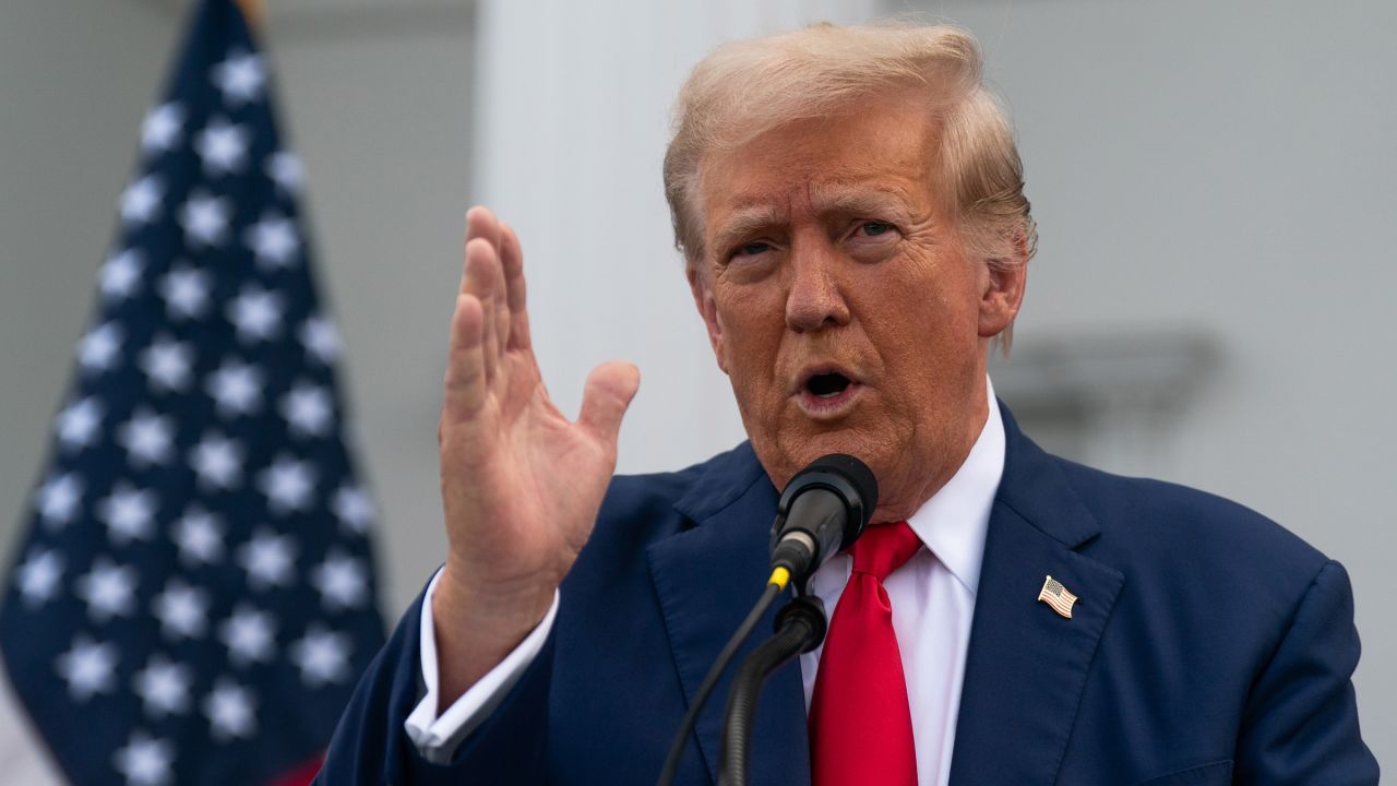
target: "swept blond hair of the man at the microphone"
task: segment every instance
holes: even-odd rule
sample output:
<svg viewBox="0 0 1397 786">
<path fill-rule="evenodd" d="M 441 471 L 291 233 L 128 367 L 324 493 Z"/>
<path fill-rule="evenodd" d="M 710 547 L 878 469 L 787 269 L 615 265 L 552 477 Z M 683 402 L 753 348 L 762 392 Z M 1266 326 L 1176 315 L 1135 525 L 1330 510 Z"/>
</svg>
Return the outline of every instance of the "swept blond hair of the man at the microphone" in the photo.
<svg viewBox="0 0 1397 786">
<path fill-rule="evenodd" d="M 698 171 L 705 155 L 778 126 L 830 115 L 890 87 L 925 90 L 939 130 L 942 196 L 961 242 L 990 266 L 1024 264 L 1037 229 L 1024 197 L 1013 129 L 982 80 L 974 36 L 946 25 L 880 24 L 803 29 L 719 46 L 679 91 L 665 154 L 675 245 L 703 259 Z"/>
</svg>

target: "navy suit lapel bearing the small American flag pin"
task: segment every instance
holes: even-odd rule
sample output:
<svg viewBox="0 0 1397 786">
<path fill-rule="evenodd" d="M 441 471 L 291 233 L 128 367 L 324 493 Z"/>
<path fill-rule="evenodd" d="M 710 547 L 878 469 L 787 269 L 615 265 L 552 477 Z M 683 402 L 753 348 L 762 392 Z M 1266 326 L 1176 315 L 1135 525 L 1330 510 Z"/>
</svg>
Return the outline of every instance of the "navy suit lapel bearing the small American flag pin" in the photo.
<svg viewBox="0 0 1397 786">
<path fill-rule="evenodd" d="M 953 786 L 1049 785 L 1125 576 L 1076 550 L 1098 534 L 1059 466 L 1004 417 L 951 757 Z M 1071 618 L 1037 600 L 1045 576 L 1078 596 Z"/>
</svg>

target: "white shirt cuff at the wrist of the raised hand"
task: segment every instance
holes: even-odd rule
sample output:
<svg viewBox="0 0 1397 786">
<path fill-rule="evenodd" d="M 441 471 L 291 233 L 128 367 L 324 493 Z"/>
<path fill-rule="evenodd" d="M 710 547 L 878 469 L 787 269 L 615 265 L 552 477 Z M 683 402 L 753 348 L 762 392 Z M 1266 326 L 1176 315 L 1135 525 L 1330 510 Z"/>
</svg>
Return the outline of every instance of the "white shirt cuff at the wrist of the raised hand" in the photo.
<svg viewBox="0 0 1397 786">
<path fill-rule="evenodd" d="M 495 669 L 490 669 L 481 680 L 471 685 L 461 698 L 437 715 L 437 655 L 436 628 L 432 624 L 432 596 L 436 592 L 437 579 L 441 571 L 432 576 L 427 592 L 422 599 L 420 621 L 420 650 L 422 650 L 422 683 L 426 685 L 426 695 L 408 713 L 404 729 L 408 738 L 418 747 L 422 758 L 432 764 L 447 764 L 451 761 L 455 748 L 474 731 L 481 722 L 495 712 L 514 683 L 518 681 L 524 670 L 534 663 L 543 642 L 548 641 L 549 631 L 553 629 L 553 617 L 557 614 L 559 593 L 553 590 L 553 606 L 549 607 L 543 621 L 538 624 L 513 652 L 504 656 Z"/>
</svg>

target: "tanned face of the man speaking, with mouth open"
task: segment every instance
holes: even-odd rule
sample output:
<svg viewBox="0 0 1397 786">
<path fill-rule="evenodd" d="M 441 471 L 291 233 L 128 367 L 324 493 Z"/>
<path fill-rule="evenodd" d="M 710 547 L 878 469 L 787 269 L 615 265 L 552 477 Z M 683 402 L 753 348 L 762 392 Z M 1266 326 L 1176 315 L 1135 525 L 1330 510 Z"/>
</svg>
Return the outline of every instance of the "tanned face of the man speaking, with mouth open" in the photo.
<svg viewBox="0 0 1397 786">
<path fill-rule="evenodd" d="M 880 522 L 964 462 L 988 415 L 988 340 L 1023 292 L 1021 270 L 967 257 L 935 150 L 921 103 L 880 97 L 700 168 L 690 284 L 757 457 L 781 488 L 826 453 L 858 456 Z"/>
</svg>

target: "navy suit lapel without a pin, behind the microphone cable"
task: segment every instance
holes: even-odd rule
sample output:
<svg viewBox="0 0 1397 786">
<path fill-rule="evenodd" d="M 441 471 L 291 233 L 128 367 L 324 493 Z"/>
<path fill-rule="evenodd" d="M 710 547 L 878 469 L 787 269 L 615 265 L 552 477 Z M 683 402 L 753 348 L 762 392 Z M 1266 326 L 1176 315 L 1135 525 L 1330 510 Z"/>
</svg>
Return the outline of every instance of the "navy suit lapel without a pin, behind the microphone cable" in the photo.
<svg viewBox="0 0 1397 786">
<path fill-rule="evenodd" d="M 767 578 L 777 491 L 746 443 L 717 459 L 675 509 L 696 526 L 647 551 L 665 631 L 685 691 L 693 701 L 718 650 L 746 617 Z M 771 635 L 778 600 L 738 650 L 718 683 L 696 734 L 710 778 L 718 780 L 718 750 L 728 687 L 738 664 Z M 761 692 L 752 734 L 752 783 L 807 783 L 810 757 L 800 666 L 792 662 Z M 692 750 L 686 751 L 693 757 Z M 680 769 L 683 772 L 685 768 Z"/>
</svg>

